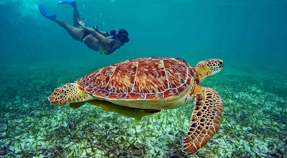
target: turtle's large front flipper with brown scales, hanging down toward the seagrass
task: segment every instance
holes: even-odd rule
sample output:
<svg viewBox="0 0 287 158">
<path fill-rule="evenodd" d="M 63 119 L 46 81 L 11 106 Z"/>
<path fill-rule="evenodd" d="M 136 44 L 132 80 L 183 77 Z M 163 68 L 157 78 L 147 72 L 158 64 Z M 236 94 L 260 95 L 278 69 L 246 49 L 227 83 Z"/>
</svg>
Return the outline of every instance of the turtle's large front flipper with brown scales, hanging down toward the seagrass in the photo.
<svg viewBox="0 0 287 158">
<path fill-rule="evenodd" d="M 183 152 L 193 153 L 203 147 L 218 132 L 223 104 L 218 93 L 208 87 L 197 87 L 191 124 L 183 140 Z"/>
</svg>

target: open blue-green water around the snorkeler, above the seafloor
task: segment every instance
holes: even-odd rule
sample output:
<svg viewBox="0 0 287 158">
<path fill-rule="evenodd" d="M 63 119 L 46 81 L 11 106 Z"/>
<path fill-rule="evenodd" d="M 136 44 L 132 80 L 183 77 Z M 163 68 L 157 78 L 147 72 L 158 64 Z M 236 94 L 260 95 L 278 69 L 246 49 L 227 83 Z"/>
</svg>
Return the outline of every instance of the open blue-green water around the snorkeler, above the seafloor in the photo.
<svg viewBox="0 0 287 158">
<path fill-rule="evenodd" d="M 286 75 L 286 1 L 77 1 L 87 26 L 95 22 L 102 31 L 129 32 L 130 42 L 108 56 L 75 41 L 38 11 L 37 5 L 44 4 L 72 24 L 72 7 L 57 3 L 0 1 L 2 75 L 17 72 L 13 67 L 18 65 L 50 67 L 52 72 L 62 71 L 54 66 L 73 71 L 88 65 L 80 77 L 111 63 L 150 56 L 179 57 L 191 65 L 220 58 L 235 71 Z"/>
</svg>

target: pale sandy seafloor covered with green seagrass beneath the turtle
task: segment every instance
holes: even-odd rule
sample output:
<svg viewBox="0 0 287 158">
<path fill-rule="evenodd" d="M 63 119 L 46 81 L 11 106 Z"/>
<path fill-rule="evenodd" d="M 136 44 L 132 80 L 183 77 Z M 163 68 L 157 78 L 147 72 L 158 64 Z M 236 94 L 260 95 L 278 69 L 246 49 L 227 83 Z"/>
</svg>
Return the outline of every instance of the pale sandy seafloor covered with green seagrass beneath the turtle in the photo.
<svg viewBox="0 0 287 158">
<path fill-rule="evenodd" d="M 0 157 L 287 157 L 287 83 L 278 74 L 226 67 L 205 79 L 201 85 L 223 101 L 220 130 L 186 154 L 182 141 L 194 102 L 134 126 L 132 118 L 94 105 L 52 105 L 48 96 L 55 88 L 85 74 L 51 69 L 18 69 L 0 79 Z"/>
</svg>

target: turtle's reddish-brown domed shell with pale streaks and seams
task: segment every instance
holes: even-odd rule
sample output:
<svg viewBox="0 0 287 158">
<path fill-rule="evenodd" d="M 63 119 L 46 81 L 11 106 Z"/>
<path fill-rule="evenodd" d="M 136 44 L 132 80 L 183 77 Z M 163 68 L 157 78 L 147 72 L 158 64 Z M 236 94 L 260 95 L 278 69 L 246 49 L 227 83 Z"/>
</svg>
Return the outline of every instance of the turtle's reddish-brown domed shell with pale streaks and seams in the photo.
<svg viewBox="0 0 287 158">
<path fill-rule="evenodd" d="M 164 102 L 185 96 L 195 75 L 183 59 L 146 57 L 98 69 L 76 82 L 87 93 L 111 102 Z"/>
</svg>

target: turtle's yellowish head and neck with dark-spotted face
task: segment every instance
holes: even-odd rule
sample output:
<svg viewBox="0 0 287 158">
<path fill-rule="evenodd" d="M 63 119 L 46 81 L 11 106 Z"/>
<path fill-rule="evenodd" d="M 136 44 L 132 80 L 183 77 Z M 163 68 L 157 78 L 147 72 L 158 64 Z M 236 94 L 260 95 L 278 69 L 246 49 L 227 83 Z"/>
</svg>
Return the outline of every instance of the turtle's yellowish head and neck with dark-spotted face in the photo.
<svg viewBox="0 0 287 158">
<path fill-rule="evenodd" d="M 198 84 L 206 77 L 211 77 L 217 74 L 224 67 L 224 63 L 221 59 L 206 59 L 203 61 L 199 61 L 194 66 L 196 71 L 196 78 L 198 80 Z"/>
</svg>

